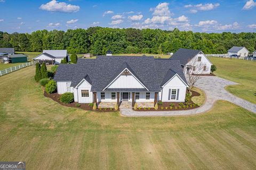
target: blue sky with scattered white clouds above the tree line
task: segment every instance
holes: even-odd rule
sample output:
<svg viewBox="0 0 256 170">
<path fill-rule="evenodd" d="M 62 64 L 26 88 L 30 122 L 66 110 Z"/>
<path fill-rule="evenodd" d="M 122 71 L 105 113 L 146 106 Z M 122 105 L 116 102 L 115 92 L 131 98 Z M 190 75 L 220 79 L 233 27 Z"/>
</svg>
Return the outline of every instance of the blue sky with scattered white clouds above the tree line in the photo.
<svg viewBox="0 0 256 170">
<path fill-rule="evenodd" d="M 253 32 L 256 1 L 0 0 L 0 30 L 33 32 L 93 26 L 196 32 Z"/>
</svg>

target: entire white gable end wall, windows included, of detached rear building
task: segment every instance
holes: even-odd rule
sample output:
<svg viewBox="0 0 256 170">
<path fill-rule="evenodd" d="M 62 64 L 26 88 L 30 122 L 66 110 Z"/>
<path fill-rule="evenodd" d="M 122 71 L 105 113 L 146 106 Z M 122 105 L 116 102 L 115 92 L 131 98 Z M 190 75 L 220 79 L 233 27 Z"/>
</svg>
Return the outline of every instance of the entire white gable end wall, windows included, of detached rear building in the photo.
<svg viewBox="0 0 256 170">
<path fill-rule="evenodd" d="M 188 74 L 188 69 L 191 69 L 191 72 L 195 74 L 210 74 L 211 65 L 212 63 L 210 60 L 203 52 L 200 52 L 186 64 L 185 74 Z"/>
</svg>

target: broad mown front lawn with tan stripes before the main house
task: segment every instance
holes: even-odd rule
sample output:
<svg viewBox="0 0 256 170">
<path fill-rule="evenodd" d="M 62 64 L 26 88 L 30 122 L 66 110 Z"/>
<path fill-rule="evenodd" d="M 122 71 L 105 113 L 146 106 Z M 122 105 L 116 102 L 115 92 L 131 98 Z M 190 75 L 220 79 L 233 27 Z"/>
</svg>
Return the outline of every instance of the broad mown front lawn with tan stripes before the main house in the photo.
<svg viewBox="0 0 256 170">
<path fill-rule="evenodd" d="M 241 107 L 218 101 L 175 117 L 86 112 L 45 98 L 34 72 L 0 77 L 0 160 L 27 169 L 256 169 L 256 115 Z"/>
</svg>

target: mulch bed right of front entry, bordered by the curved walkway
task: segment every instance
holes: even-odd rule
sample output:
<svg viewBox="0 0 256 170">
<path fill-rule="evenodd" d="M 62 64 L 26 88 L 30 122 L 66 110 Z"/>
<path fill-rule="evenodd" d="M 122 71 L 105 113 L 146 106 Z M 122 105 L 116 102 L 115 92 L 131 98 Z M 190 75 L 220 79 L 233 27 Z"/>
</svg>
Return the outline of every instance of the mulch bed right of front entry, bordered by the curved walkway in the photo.
<svg viewBox="0 0 256 170">
<path fill-rule="evenodd" d="M 200 94 L 196 91 L 191 90 L 191 92 L 192 92 L 192 95 L 190 96 L 190 98 L 194 97 L 194 96 L 200 96 Z M 183 110 L 190 110 L 190 109 L 199 107 L 191 100 L 190 100 L 189 106 L 186 108 L 183 108 L 183 107 L 179 108 L 179 106 L 180 106 L 179 104 L 182 102 L 162 102 L 162 103 L 163 103 L 163 105 L 158 104 L 157 110 L 155 108 L 150 108 L 150 109 L 149 108 L 141 108 L 141 109 L 137 108 L 137 110 L 134 110 L 134 109 L 133 110 L 134 111 L 183 111 Z M 170 108 L 170 104 L 174 104 L 174 106 L 172 106 L 172 109 Z M 190 107 L 190 105 L 192 105 L 192 107 Z M 167 107 L 167 109 L 166 109 L 166 107 Z"/>
</svg>

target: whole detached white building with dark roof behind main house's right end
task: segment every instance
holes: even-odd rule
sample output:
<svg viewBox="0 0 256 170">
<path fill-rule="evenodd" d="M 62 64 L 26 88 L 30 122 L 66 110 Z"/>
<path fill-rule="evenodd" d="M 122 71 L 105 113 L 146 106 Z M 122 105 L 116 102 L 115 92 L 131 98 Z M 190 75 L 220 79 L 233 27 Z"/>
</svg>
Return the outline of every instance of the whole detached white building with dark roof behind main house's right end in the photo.
<svg viewBox="0 0 256 170">
<path fill-rule="evenodd" d="M 212 63 L 201 50 L 180 48 L 171 60 L 179 60 L 184 74 L 210 74 Z"/>
</svg>

